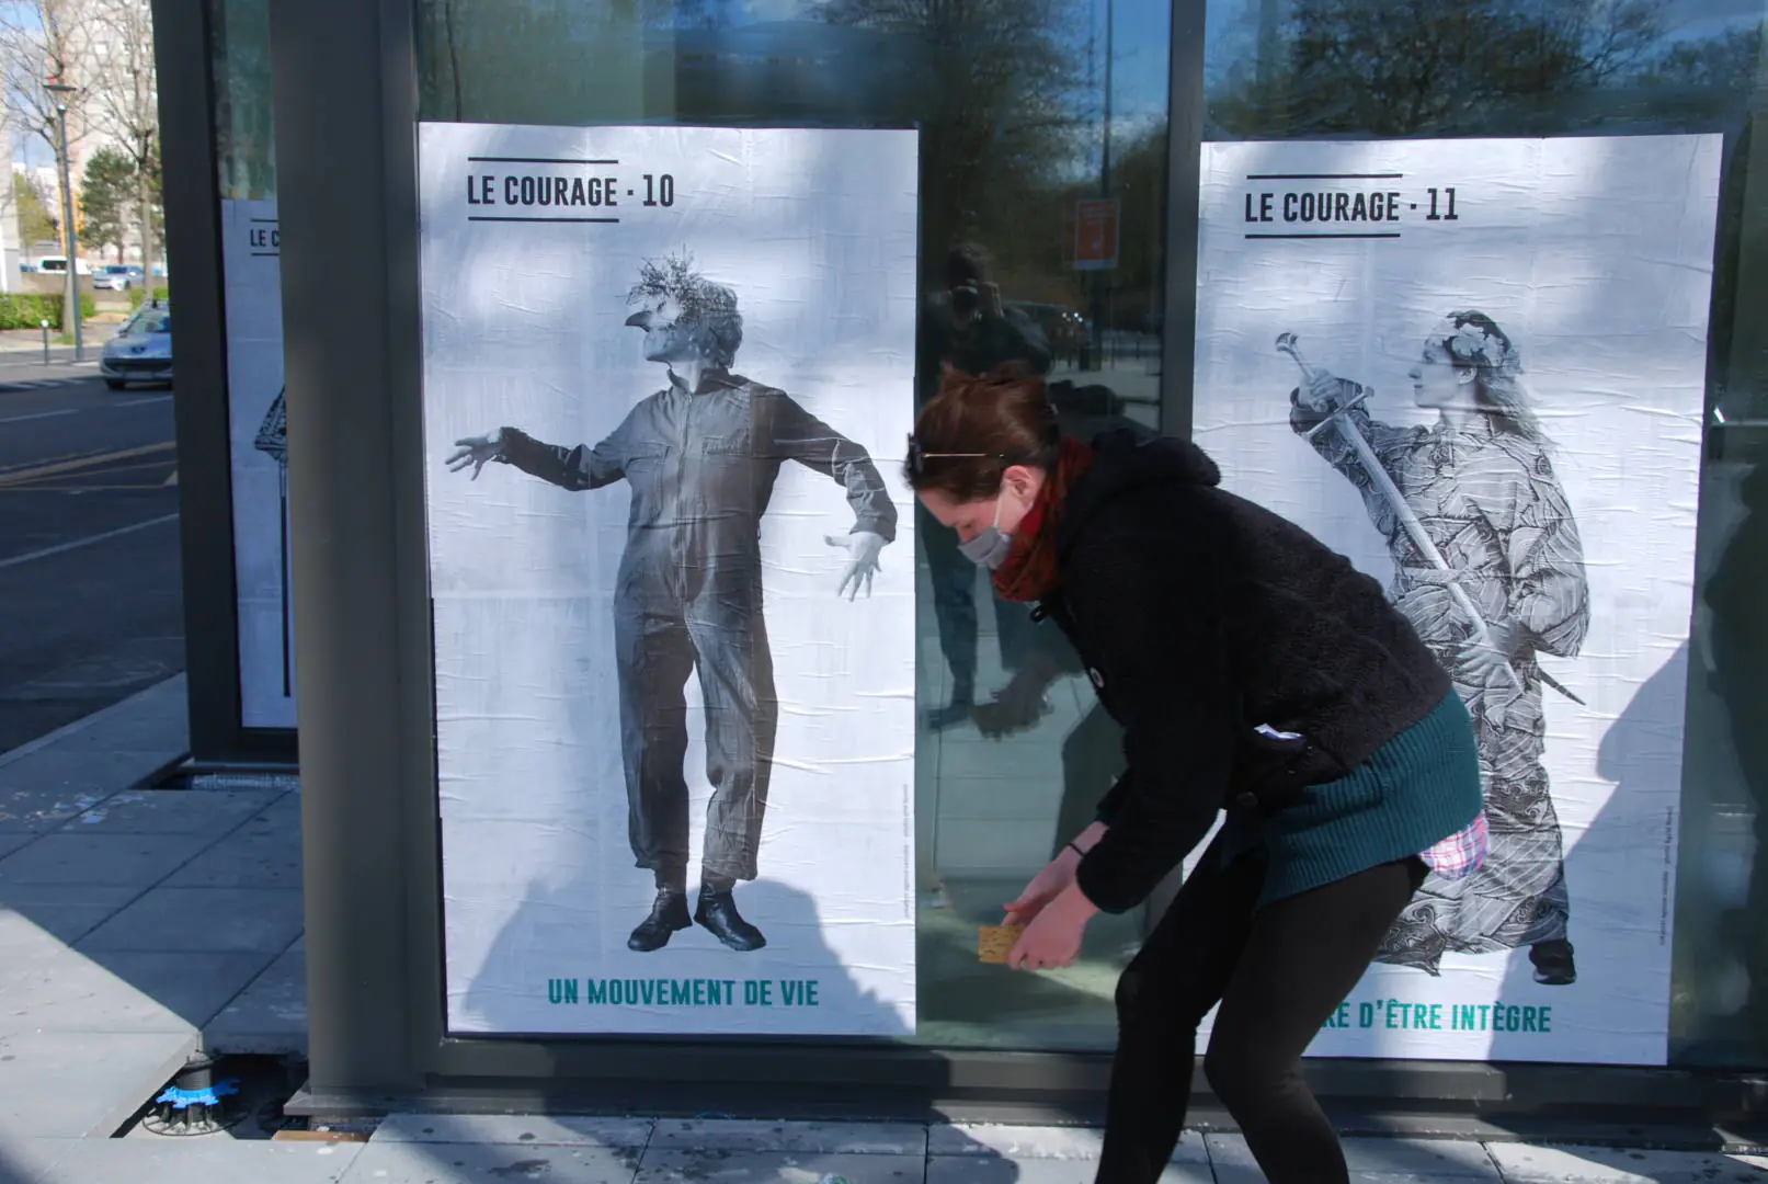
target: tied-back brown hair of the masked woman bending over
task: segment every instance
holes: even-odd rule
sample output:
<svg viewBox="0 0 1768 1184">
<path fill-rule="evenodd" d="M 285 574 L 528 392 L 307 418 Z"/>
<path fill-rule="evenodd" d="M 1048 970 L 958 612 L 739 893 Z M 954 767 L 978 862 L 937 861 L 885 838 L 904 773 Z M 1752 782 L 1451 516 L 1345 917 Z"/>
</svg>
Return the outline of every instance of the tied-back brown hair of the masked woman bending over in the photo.
<svg viewBox="0 0 1768 1184">
<path fill-rule="evenodd" d="M 916 493 L 956 504 L 992 498 L 1011 465 L 1048 470 L 1061 431 L 1043 378 L 1008 362 L 987 375 L 946 369 L 921 410 L 905 467 Z"/>
</svg>

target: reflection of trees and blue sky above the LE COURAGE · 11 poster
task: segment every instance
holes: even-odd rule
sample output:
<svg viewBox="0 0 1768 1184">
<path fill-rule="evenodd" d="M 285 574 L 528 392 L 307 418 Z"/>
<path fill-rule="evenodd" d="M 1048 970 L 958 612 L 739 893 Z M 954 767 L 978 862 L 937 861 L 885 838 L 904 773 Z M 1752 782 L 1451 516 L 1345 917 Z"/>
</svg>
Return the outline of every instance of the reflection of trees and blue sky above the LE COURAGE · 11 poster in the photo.
<svg viewBox="0 0 1768 1184">
<path fill-rule="evenodd" d="M 1209 5 L 1213 140 L 1568 134 L 1715 118 L 1756 80 L 1761 11 L 1701 0 Z"/>
</svg>

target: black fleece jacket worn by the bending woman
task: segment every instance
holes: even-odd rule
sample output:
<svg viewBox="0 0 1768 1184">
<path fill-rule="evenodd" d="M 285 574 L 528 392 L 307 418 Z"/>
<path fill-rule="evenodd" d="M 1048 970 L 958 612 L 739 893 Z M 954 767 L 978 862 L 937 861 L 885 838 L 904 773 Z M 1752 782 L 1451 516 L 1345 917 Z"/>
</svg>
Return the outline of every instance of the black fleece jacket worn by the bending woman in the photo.
<svg viewBox="0 0 1768 1184">
<path fill-rule="evenodd" d="M 1041 604 L 1124 728 L 1126 774 L 1080 891 L 1124 912 L 1222 808 L 1278 809 L 1342 778 L 1450 693 L 1376 580 L 1294 523 L 1216 488 L 1183 440 L 1098 438 L 1059 520 Z M 1262 740 L 1269 725 L 1305 744 Z"/>
</svg>

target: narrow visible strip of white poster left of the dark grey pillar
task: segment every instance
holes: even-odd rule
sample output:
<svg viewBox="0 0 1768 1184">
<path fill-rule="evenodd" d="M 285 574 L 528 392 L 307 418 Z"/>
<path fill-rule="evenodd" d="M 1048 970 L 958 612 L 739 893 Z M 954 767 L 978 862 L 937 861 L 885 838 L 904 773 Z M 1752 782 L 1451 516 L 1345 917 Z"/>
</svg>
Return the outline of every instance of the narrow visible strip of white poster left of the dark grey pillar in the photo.
<svg viewBox="0 0 1768 1184">
<path fill-rule="evenodd" d="M 240 725 L 295 726 L 276 201 L 221 203 Z"/>
</svg>

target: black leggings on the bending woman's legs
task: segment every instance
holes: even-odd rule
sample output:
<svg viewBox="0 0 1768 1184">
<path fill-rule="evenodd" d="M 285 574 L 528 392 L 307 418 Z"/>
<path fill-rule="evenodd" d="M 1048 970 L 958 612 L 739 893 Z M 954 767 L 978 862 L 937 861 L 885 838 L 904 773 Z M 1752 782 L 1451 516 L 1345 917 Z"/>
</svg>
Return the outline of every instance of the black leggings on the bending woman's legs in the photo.
<svg viewBox="0 0 1768 1184">
<path fill-rule="evenodd" d="M 1197 1025 L 1220 1000 L 1204 1073 L 1271 1184 L 1349 1180 L 1301 1053 L 1363 977 L 1425 878 L 1360 871 L 1257 912 L 1264 854 L 1209 850 L 1117 983 L 1117 1057 L 1098 1184 L 1155 1184 L 1185 1129 Z"/>
</svg>

